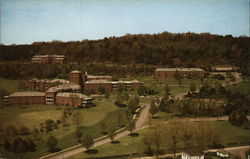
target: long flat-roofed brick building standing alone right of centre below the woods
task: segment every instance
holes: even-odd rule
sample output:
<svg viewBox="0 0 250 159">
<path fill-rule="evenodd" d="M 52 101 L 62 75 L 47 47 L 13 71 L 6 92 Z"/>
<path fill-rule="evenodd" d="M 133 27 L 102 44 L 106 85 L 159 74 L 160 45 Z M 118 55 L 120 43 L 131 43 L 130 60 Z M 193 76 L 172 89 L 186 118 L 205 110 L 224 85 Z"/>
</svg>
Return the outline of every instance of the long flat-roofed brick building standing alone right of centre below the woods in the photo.
<svg viewBox="0 0 250 159">
<path fill-rule="evenodd" d="M 157 68 L 154 72 L 156 79 L 173 79 L 175 74 L 183 78 L 197 76 L 204 77 L 205 71 L 201 68 Z"/>
</svg>

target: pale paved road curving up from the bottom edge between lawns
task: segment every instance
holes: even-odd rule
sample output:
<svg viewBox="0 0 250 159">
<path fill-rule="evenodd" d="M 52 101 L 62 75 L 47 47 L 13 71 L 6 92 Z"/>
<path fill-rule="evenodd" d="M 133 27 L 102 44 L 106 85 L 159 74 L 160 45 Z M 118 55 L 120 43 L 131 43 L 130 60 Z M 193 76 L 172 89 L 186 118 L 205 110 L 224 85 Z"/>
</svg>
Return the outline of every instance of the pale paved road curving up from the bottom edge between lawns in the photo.
<svg viewBox="0 0 250 159">
<path fill-rule="evenodd" d="M 144 103 L 144 108 L 143 110 L 141 111 L 140 115 L 139 115 L 139 118 L 137 119 L 136 121 L 136 129 L 135 131 L 138 131 L 138 130 L 141 130 L 141 129 L 144 129 L 146 127 L 148 127 L 147 125 L 145 125 L 145 123 L 147 122 L 148 120 L 148 112 L 149 112 L 149 108 L 150 108 L 150 105 L 147 104 L 147 103 Z M 123 130 L 119 133 L 117 133 L 115 139 L 119 139 L 123 136 L 126 136 L 130 134 L 130 131 L 128 130 Z M 111 142 L 111 140 L 109 138 L 103 138 L 101 140 L 98 140 L 94 143 L 93 145 L 93 148 L 94 147 L 97 147 L 97 146 L 100 146 L 100 145 L 103 145 L 103 144 L 106 144 L 106 143 L 109 143 Z M 51 159 L 64 159 L 64 158 L 68 158 L 70 156 L 73 156 L 75 154 L 78 154 L 80 152 L 83 152 L 85 151 L 86 149 L 82 146 L 75 146 L 76 148 L 73 148 L 72 150 L 69 150 L 69 151 L 66 151 L 66 152 L 63 152 L 63 153 L 59 153 L 58 155 L 54 155 L 53 157 L 47 157 L 47 158 L 51 158 Z"/>
</svg>

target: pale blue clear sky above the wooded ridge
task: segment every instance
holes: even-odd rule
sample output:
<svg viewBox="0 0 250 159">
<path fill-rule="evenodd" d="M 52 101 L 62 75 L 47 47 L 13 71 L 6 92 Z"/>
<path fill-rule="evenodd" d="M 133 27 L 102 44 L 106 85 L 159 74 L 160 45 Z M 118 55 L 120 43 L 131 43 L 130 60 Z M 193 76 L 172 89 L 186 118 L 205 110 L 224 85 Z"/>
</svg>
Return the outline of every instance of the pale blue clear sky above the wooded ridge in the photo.
<svg viewBox="0 0 250 159">
<path fill-rule="evenodd" d="M 125 34 L 249 36 L 250 0 L 0 0 L 0 43 Z"/>
</svg>

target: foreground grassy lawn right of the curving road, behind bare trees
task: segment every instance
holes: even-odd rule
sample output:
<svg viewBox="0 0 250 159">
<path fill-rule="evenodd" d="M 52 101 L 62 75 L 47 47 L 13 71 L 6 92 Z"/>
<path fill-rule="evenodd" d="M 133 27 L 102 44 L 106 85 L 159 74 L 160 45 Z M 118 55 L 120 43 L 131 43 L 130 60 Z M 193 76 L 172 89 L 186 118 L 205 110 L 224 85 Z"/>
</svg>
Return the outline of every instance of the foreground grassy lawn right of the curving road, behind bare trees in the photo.
<svg viewBox="0 0 250 159">
<path fill-rule="evenodd" d="M 246 142 L 250 141 L 250 131 L 249 129 L 242 129 L 239 127 L 235 127 L 231 125 L 228 121 L 209 121 L 211 126 L 214 126 L 218 129 L 220 134 L 222 135 L 222 139 L 224 143 L 232 143 L 232 142 Z M 148 129 L 144 129 L 139 131 L 138 137 L 126 136 L 119 139 L 119 144 L 104 144 L 96 149 L 98 150 L 97 154 L 86 154 L 79 153 L 75 156 L 72 156 L 70 159 L 80 159 L 80 158 L 88 158 L 88 157 L 101 157 L 101 156 L 115 156 L 122 154 L 132 154 L 132 153 L 141 153 L 144 151 L 144 145 L 142 142 L 143 134 L 145 134 Z M 168 149 L 168 145 L 163 145 L 163 149 Z"/>
</svg>

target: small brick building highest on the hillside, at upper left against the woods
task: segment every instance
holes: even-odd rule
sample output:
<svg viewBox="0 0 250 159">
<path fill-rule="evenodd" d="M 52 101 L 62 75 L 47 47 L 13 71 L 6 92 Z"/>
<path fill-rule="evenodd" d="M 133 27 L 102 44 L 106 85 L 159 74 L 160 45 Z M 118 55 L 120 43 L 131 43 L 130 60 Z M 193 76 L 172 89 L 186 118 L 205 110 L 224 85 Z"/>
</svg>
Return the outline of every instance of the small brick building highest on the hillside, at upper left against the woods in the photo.
<svg viewBox="0 0 250 159">
<path fill-rule="evenodd" d="M 32 63 L 63 64 L 64 55 L 35 55 L 31 58 Z"/>
</svg>

